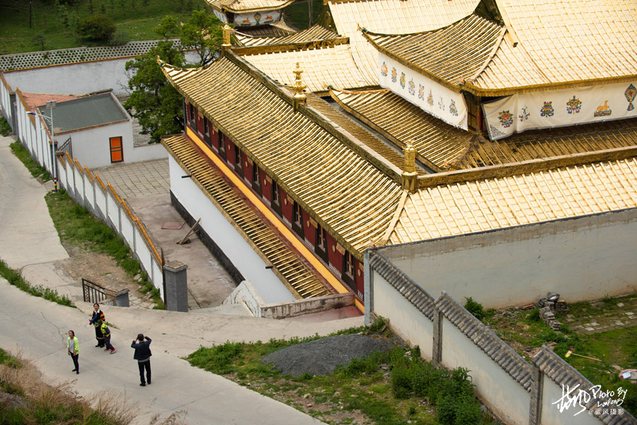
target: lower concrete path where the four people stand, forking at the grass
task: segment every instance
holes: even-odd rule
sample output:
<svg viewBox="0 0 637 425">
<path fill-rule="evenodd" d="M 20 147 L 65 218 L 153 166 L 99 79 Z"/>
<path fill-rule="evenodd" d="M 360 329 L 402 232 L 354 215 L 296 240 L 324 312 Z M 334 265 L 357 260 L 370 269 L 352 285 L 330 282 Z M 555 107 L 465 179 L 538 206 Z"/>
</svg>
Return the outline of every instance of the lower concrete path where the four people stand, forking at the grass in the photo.
<svg viewBox="0 0 637 425">
<path fill-rule="evenodd" d="M 186 423 L 303 425 L 321 422 L 296 409 L 241 387 L 218 375 L 191 367 L 182 356 L 201 345 L 231 341 L 328 334 L 362 325 L 362 318 L 304 323 L 214 314 L 176 313 L 135 308 L 105 308 L 113 323 L 115 354 L 96 348 L 88 327 L 91 305 L 83 311 L 34 298 L 0 278 L 0 347 L 31 359 L 48 383 L 71 381 L 71 388 L 91 400 L 113 390 L 144 412 L 136 424 L 148 424 L 154 414 L 188 413 Z M 74 330 L 80 342 L 80 374 L 71 372 L 66 334 Z M 137 363 L 130 342 L 139 332 L 153 339 L 153 383 L 139 387 Z"/>
</svg>

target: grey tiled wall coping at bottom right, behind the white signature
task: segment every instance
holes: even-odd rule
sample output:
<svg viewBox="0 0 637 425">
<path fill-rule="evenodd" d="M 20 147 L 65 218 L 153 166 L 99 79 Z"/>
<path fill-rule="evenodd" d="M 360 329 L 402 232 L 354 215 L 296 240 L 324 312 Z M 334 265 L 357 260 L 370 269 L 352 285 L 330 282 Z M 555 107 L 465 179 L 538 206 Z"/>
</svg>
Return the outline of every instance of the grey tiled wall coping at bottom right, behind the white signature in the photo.
<svg viewBox="0 0 637 425">
<path fill-rule="evenodd" d="M 546 347 L 546 345 L 542 345 L 541 350 L 533 356 L 531 362 L 534 367 L 541 371 L 541 373 L 549 377 L 553 383 L 556 383 L 563 388 L 568 386 L 568 389 L 572 390 L 579 388 L 579 390 L 582 391 L 589 391 L 595 386 L 577 369 L 570 366 L 570 364 L 564 361 L 553 350 L 549 349 L 549 347 Z M 613 404 L 609 397 L 597 397 L 597 395 L 592 394 L 589 395 L 590 400 L 580 398 L 580 402 L 585 403 L 580 404 L 580 406 L 585 407 L 585 409 L 589 411 L 588 413 L 602 421 L 602 424 L 634 425 L 637 423 L 637 419 L 635 419 L 635 417 L 626 410 L 624 410 L 624 414 L 604 414 L 601 409 L 599 409 L 599 413 L 595 413 L 595 407 Z M 611 403 L 604 404 L 604 402 Z"/>
</svg>

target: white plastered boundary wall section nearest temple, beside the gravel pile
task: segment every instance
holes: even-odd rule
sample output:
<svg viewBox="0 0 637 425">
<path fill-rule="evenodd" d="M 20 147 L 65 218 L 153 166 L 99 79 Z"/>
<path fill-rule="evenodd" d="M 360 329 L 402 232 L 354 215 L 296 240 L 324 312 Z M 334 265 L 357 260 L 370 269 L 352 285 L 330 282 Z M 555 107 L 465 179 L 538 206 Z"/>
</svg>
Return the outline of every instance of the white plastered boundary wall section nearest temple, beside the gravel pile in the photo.
<svg viewBox="0 0 637 425">
<path fill-rule="evenodd" d="M 412 345 L 420 347 L 420 355 L 431 360 L 433 323 L 407 301 L 383 276 L 374 272 L 374 313 L 389 318 L 391 329 Z"/>
</svg>

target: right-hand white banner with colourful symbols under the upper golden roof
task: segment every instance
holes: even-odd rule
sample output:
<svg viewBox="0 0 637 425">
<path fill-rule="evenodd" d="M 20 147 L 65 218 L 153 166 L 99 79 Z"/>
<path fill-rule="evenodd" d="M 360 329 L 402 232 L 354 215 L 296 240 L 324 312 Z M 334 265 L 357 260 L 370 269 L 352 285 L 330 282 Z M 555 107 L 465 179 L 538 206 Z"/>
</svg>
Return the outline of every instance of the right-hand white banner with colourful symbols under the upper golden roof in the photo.
<svg viewBox="0 0 637 425">
<path fill-rule="evenodd" d="M 637 117 L 634 83 L 522 93 L 483 103 L 491 140 L 529 129 Z"/>
</svg>

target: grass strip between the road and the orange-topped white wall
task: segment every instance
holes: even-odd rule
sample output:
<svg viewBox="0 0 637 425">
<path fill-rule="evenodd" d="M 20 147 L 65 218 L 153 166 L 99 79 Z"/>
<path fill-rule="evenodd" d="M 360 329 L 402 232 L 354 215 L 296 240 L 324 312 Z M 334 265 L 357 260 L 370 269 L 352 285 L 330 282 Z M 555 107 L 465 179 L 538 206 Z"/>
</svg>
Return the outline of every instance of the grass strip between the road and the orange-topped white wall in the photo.
<svg viewBox="0 0 637 425">
<path fill-rule="evenodd" d="M 155 308 L 163 310 L 159 290 L 154 288 L 148 280 L 148 275 L 142 272 L 139 262 L 132 256 L 128 245 L 113 229 L 96 219 L 84 206 L 77 204 L 63 189 L 57 193 L 49 192 L 45 199 L 62 243 L 106 254 L 130 277 L 139 274 L 142 276 L 142 293 L 150 292 Z"/>
</svg>

